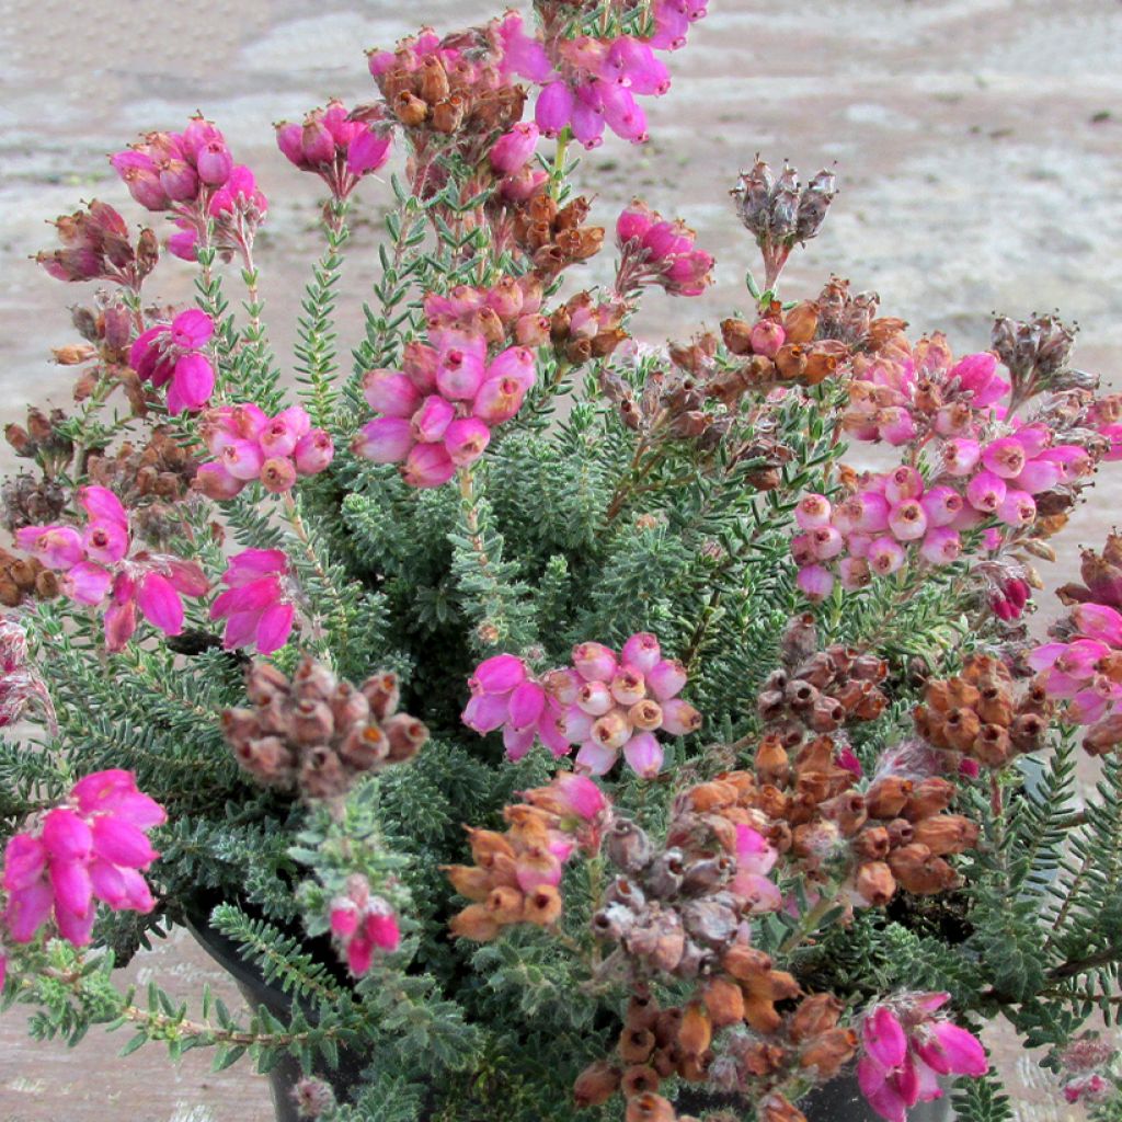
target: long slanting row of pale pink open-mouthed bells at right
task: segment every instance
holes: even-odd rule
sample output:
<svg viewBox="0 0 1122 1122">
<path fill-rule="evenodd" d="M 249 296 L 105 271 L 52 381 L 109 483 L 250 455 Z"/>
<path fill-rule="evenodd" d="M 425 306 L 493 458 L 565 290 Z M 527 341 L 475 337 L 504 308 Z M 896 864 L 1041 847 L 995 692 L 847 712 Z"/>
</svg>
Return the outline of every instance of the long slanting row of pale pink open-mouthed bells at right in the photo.
<svg viewBox="0 0 1122 1122">
<path fill-rule="evenodd" d="M 908 560 L 909 548 L 929 564 L 957 560 L 962 531 L 996 518 L 1005 526 L 1031 525 L 1034 495 L 1070 482 L 1092 469 L 1077 444 L 1051 444 L 1043 425 L 1024 425 L 986 442 L 957 436 L 940 449 L 941 471 L 930 484 L 909 466 L 864 476 L 861 489 L 838 505 L 807 495 L 795 509 L 802 533 L 791 541 L 803 594 L 820 600 L 834 587 L 855 589 L 888 576 Z M 990 534 L 986 544 L 1000 544 Z M 1023 605 L 1021 605 L 1023 607 Z"/>
</svg>

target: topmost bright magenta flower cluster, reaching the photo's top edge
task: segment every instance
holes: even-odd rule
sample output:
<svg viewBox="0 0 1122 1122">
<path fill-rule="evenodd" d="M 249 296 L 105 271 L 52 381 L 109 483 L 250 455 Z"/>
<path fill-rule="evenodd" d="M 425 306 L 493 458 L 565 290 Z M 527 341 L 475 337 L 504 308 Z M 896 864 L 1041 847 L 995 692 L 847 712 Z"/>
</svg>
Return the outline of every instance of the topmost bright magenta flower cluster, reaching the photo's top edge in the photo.
<svg viewBox="0 0 1122 1122">
<path fill-rule="evenodd" d="M 636 99 L 661 96 L 670 89 L 669 71 L 655 52 L 684 46 L 690 24 L 705 15 L 703 0 L 657 0 L 649 38 L 569 39 L 528 36 L 522 17 L 507 12 L 494 25 L 494 35 L 503 74 L 517 74 L 542 88 L 534 107 L 542 134 L 555 137 L 569 128 L 579 144 L 595 148 L 609 129 L 642 144 L 647 139 L 646 113 Z"/>
</svg>

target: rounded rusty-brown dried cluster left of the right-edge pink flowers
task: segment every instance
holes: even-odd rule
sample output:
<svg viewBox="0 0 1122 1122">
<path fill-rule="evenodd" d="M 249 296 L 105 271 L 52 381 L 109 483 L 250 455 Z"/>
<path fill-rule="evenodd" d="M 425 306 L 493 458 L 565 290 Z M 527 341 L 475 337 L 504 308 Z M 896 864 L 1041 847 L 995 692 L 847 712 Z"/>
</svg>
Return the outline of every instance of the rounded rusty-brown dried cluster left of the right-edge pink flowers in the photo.
<svg viewBox="0 0 1122 1122">
<path fill-rule="evenodd" d="M 972 655 L 955 678 L 927 683 L 914 711 L 916 732 L 937 748 L 975 761 L 968 771 L 978 764 L 1003 767 L 1014 755 L 1039 748 L 1048 730 L 1046 689 L 1038 683 L 1018 693 L 1003 662 Z"/>
</svg>

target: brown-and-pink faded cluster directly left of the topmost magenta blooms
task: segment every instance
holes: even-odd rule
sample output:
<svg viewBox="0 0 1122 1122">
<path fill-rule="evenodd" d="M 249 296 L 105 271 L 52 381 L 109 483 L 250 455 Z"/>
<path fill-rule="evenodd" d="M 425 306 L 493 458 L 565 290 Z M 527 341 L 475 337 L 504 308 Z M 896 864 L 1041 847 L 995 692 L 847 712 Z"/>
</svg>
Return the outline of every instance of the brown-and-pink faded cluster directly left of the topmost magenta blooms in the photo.
<svg viewBox="0 0 1122 1122">
<path fill-rule="evenodd" d="M 522 118 L 525 91 L 512 85 L 498 66 L 500 47 L 494 26 L 441 39 L 422 28 L 394 50 L 370 50 L 370 74 L 389 112 L 414 134 L 423 149 L 434 136 L 461 141 L 490 139 Z"/>
</svg>

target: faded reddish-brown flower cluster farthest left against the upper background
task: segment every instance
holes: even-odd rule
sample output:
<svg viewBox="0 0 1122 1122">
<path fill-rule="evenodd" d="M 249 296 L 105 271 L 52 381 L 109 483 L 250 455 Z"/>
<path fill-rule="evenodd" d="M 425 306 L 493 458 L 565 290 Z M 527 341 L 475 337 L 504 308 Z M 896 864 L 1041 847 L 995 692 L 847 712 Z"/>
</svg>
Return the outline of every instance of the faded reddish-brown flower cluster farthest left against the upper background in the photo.
<svg viewBox="0 0 1122 1122">
<path fill-rule="evenodd" d="M 56 280 L 109 280 L 137 292 L 159 259 L 151 230 L 142 230 L 134 247 L 125 219 L 96 199 L 84 210 L 61 214 L 54 227 L 62 249 L 44 250 L 35 259 Z"/>
</svg>

